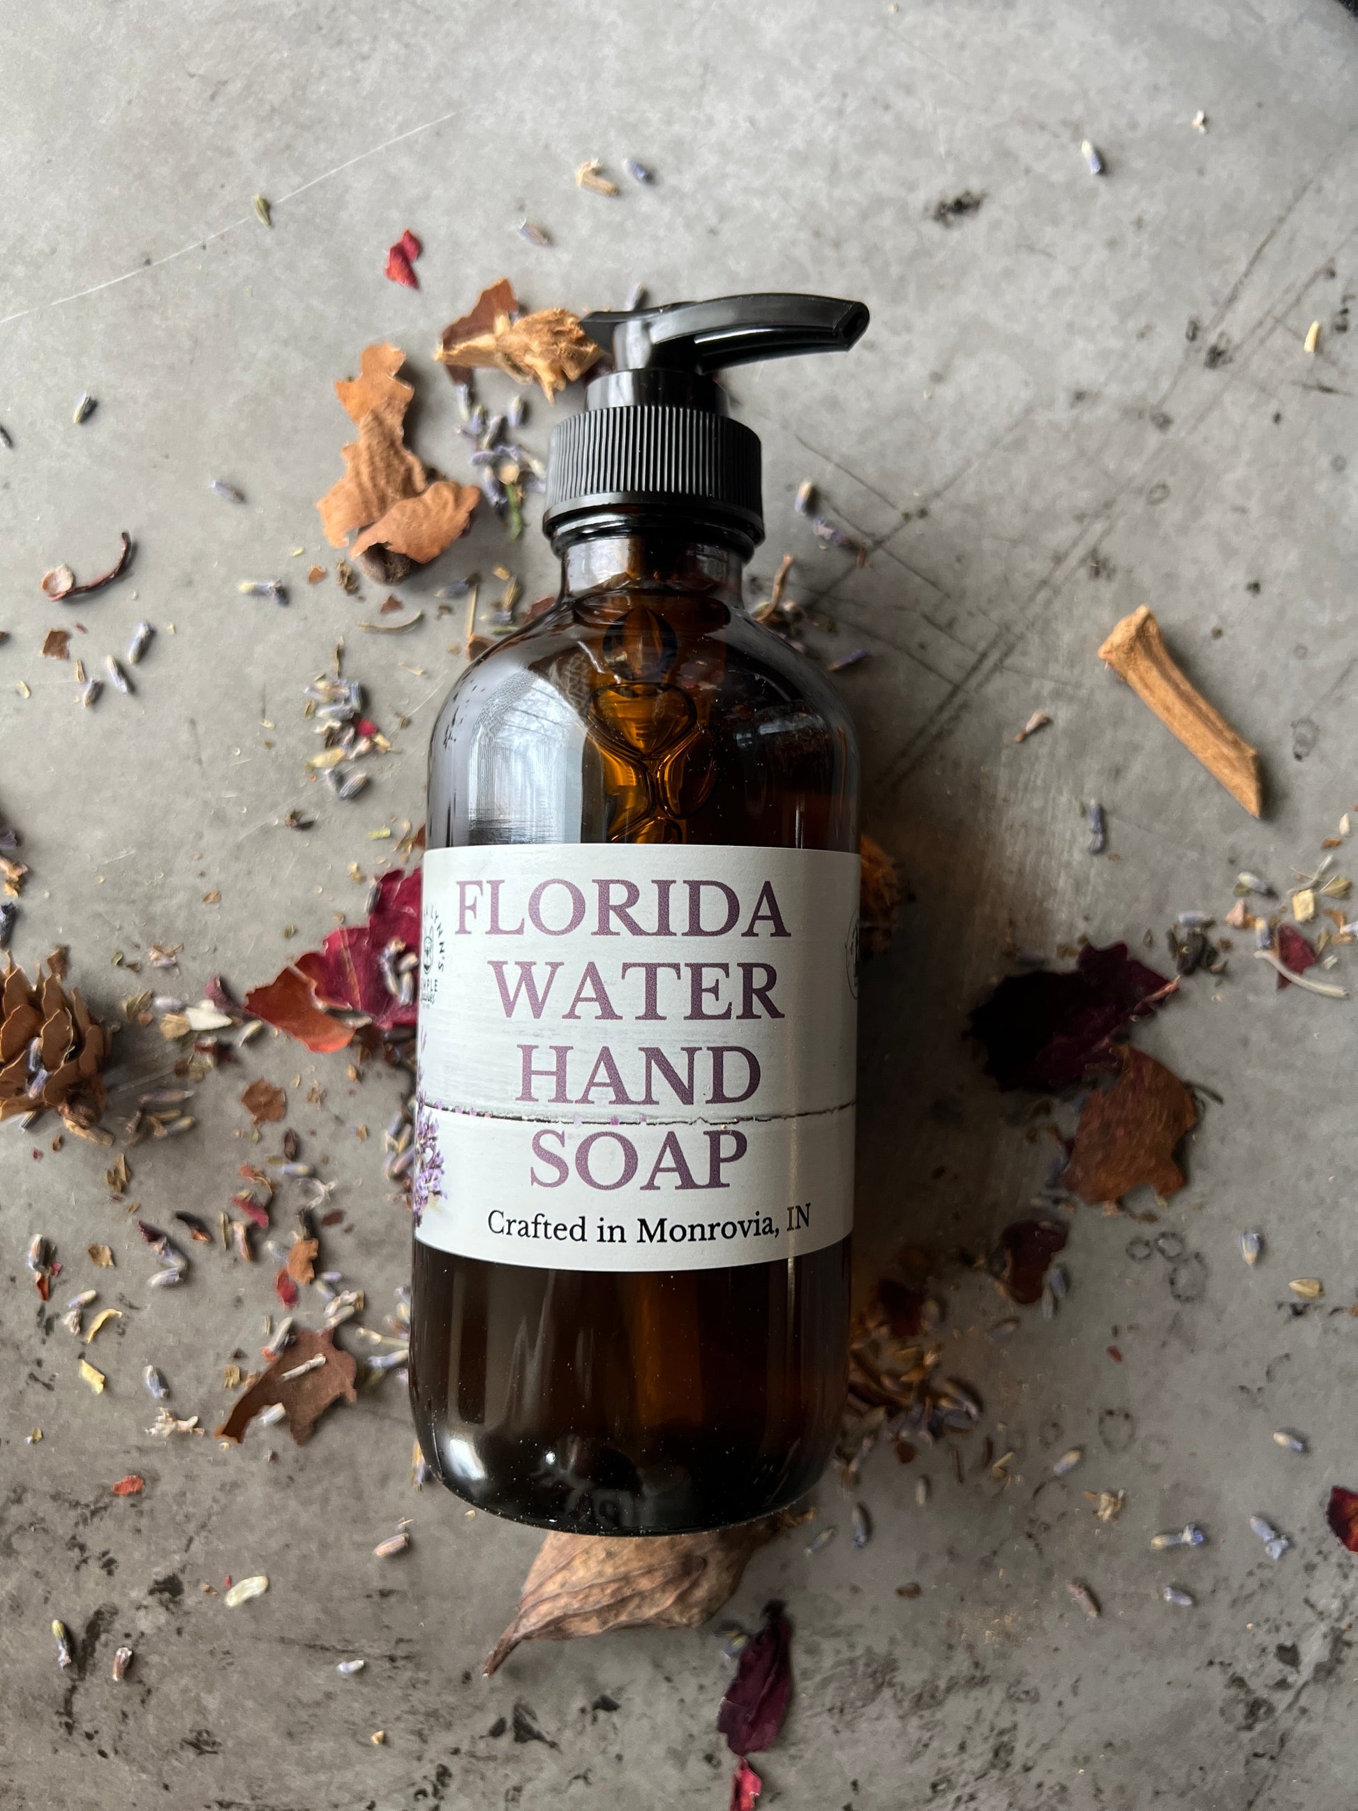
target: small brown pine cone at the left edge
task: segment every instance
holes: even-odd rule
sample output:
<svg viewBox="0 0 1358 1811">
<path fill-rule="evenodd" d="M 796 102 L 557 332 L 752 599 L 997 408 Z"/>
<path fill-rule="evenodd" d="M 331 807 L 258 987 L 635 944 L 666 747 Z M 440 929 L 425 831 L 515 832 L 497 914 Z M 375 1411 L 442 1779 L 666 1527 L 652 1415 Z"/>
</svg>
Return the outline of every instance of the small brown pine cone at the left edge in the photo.
<svg viewBox="0 0 1358 1811">
<path fill-rule="evenodd" d="M 109 1032 L 72 989 L 65 989 L 65 953 L 47 958 L 34 987 L 13 963 L 0 992 L 0 1119 L 54 1108 L 67 1132 L 112 1145 L 100 1128 L 109 1090 L 100 1070 Z"/>
</svg>

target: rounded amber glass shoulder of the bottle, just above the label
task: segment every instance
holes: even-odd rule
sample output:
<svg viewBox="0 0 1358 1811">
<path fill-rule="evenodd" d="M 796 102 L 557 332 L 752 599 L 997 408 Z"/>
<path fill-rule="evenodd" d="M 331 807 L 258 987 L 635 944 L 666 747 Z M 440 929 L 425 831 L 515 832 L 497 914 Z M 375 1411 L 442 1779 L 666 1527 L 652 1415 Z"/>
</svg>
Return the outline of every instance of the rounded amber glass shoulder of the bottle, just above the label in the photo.
<svg viewBox="0 0 1358 1811">
<path fill-rule="evenodd" d="M 835 686 L 744 610 L 567 596 L 444 701 L 427 835 L 856 848 L 856 799 Z"/>
</svg>

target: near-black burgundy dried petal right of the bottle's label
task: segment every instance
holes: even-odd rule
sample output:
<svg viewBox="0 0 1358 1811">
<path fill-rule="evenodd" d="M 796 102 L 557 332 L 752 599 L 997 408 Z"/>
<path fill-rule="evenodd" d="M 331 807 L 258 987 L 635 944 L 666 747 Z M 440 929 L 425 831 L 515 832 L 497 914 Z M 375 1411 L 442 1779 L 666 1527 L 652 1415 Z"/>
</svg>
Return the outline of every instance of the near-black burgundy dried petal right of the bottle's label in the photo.
<svg viewBox="0 0 1358 1811">
<path fill-rule="evenodd" d="M 1007 976 L 971 1016 L 985 1045 L 985 1072 L 1001 1088 L 1047 1094 L 1074 1087 L 1092 1068 L 1114 1068 L 1114 1036 L 1177 991 L 1126 944 L 1086 944 L 1066 973 Z"/>
</svg>

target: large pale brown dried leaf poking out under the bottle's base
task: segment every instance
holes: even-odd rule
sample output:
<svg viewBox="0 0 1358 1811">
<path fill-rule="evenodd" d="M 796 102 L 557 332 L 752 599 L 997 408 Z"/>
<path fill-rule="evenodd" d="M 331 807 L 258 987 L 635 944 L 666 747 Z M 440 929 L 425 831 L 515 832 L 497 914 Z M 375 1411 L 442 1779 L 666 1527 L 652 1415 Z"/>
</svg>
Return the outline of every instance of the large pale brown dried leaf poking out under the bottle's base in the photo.
<svg viewBox="0 0 1358 1811">
<path fill-rule="evenodd" d="M 520 1641 L 574 1641 L 614 1628 L 697 1628 L 721 1610 L 750 1554 L 771 1532 L 773 1523 L 744 1523 L 645 1541 L 549 1534 L 485 1672 L 496 1672 Z"/>
</svg>

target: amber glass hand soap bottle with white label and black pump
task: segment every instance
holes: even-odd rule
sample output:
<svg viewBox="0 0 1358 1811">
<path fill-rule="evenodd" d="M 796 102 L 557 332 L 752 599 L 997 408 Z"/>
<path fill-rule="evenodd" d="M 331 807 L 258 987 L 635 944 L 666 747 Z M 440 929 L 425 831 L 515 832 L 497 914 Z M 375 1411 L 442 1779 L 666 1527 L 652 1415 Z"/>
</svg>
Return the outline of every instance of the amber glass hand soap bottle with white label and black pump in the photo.
<svg viewBox="0 0 1358 1811">
<path fill-rule="evenodd" d="M 831 308 L 715 306 L 748 330 L 775 301 Z M 858 337 L 851 306 L 822 344 Z M 681 311 L 641 319 L 688 373 L 590 402 L 735 429 L 693 407 L 715 386 L 665 339 Z M 730 460 L 663 449 L 663 489 L 636 451 L 590 456 L 581 494 L 554 440 L 556 605 L 433 733 L 411 1400 L 469 1503 L 675 1534 L 793 1501 L 844 1402 L 858 757 L 831 685 L 744 610 L 757 464 L 751 507 Z"/>
</svg>

